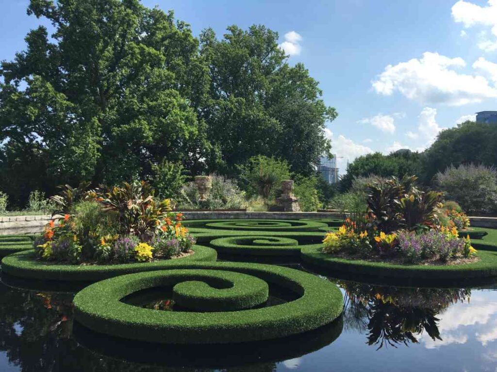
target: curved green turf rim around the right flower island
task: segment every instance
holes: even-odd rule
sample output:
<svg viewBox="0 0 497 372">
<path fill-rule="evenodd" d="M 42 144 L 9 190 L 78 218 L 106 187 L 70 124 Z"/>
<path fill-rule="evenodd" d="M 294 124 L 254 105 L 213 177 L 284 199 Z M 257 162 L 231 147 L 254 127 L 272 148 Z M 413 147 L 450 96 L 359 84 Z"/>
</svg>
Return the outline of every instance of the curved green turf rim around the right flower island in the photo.
<svg viewBox="0 0 497 372">
<path fill-rule="evenodd" d="M 497 276 L 497 252 L 478 251 L 478 262 L 460 265 L 428 266 L 413 264 L 391 264 L 386 262 L 369 262 L 360 259 L 333 257 L 322 252 L 322 247 L 303 247 L 301 258 L 304 262 L 318 267 L 339 272 L 360 275 L 374 275 L 386 278 L 405 279 L 464 279 L 490 278 Z"/>
</svg>

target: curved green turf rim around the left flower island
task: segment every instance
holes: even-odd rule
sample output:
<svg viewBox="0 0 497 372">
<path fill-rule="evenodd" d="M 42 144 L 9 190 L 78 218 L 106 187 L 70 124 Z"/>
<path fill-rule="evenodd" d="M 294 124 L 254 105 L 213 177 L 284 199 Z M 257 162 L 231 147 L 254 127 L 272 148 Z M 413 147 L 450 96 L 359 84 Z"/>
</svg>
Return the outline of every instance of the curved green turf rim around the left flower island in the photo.
<svg viewBox="0 0 497 372">
<path fill-rule="evenodd" d="M 215 249 L 193 246 L 193 254 L 170 260 L 136 262 L 116 265 L 61 265 L 35 259 L 34 250 L 9 254 L 1 260 L 5 273 L 25 279 L 58 281 L 97 281 L 117 275 L 153 271 L 176 266 L 181 262 L 216 261 Z"/>
</svg>

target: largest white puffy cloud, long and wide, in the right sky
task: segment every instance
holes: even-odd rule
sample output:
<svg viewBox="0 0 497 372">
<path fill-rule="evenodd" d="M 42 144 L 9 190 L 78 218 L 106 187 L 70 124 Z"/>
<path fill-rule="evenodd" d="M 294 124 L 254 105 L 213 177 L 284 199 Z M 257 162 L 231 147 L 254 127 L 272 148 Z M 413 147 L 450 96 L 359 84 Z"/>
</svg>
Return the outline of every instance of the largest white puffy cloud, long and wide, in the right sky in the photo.
<svg viewBox="0 0 497 372">
<path fill-rule="evenodd" d="M 378 94 L 389 96 L 398 91 L 421 103 L 460 106 L 497 97 L 497 89 L 485 77 L 455 71 L 464 66 L 462 58 L 425 52 L 421 59 L 389 64 L 371 84 Z"/>
</svg>

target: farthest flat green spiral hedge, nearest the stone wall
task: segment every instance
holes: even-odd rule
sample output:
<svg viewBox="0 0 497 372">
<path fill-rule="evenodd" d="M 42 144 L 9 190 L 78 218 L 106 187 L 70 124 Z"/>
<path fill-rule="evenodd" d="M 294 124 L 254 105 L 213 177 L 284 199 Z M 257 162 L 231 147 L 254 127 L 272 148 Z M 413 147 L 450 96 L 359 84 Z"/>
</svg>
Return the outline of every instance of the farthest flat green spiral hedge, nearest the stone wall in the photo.
<svg viewBox="0 0 497 372">
<path fill-rule="evenodd" d="M 211 230 L 296 232 L 317 231 L 320 227 L 327 227 L 322 222 L 302 220 L 192 220 L 185 221 L 183 225 L 192 233 Z"/>
</svg>

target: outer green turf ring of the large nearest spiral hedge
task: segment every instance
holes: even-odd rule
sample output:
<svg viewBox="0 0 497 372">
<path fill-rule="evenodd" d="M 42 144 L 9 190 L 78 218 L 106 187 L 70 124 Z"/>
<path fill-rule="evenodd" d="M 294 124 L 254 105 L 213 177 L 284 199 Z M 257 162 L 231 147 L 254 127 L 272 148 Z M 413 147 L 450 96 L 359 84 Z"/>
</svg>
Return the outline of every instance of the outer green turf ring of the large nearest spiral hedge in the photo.
<svg viewBox="0 0 497 372">
<path fill-rule="evenodd" d="M 333 321 L 343 308 L 343 297 L 336 285 L 287 267 L 214 262 L 184 264 L 182 268 L 246 273 L 301 297 L 267 308 L 210 313 L 157 311 L 119 301 L 153 286 L 154 277 L 161 272 L 148 272 L 119 276 L 84 288 L 74 298 L 75 319 L 96 332 L 147 342 L 238 343 L 313 330 Z"/>
</svg>

